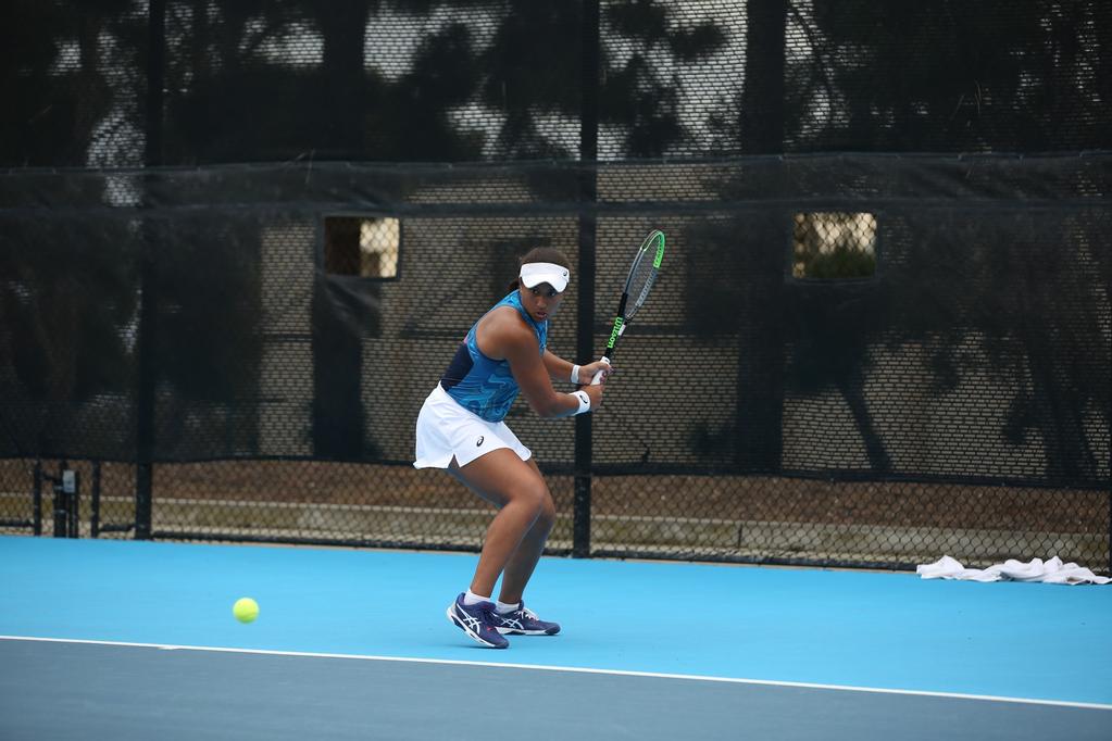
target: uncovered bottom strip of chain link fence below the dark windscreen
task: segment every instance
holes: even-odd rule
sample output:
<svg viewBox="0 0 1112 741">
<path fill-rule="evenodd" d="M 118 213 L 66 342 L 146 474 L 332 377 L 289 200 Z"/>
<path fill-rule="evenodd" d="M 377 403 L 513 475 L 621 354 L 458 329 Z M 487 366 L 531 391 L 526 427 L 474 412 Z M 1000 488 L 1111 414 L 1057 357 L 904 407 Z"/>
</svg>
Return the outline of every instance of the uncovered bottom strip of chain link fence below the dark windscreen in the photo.
<svg viewBox="0 0 1112 741">
<path fill-rule="evenodd" d="M 2 463 L 2 532 L 33 532 L 37 461 Z M 135 537 L 133 465 L 38 463 L 42 534 L 71 534 L 59 523 L 75 511 L 79 537 Z M 54 491 L 67 469 L 79 477 L 73 500 Z M 400 467 L 227 461 L 156 471 L 152 532 L 167 540 L 473 551 L 493 515 L 447 477 Z M 573 480 L 548 483 L 558 520 L 547 552 L 567 555 Z M 592 491 L 595 557 L 907 569 L 940 554 L 971 567 L 1054 554 L 1109 572 L 1102 491 L 705 475 L 598 477 Z"/>
</svg>

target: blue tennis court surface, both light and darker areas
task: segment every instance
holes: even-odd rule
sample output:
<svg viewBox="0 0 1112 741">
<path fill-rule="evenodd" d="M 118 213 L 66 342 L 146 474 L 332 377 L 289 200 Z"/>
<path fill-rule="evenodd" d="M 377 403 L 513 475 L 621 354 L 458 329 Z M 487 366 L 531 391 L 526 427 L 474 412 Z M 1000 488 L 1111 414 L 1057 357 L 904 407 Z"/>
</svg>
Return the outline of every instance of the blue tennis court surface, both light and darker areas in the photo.
<svg viewBox="0 0 1112 741">
<path fill-rule="evenodd" d="M 474 559 L 0 538 L 0 738 L 1112 738 L 1112 589 L 545 559 L 494 651 Z"/>
</svg>

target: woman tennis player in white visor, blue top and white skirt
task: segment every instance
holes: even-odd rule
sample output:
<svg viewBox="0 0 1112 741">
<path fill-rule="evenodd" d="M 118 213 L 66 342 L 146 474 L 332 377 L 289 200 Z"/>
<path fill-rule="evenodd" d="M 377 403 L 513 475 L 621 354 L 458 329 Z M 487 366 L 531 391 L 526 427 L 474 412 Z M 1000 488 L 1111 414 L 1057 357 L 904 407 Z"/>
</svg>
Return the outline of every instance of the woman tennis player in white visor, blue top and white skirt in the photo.
<svg viewBox="0 0 1112 741">
<path fill-rule="evenodd" d="M 522 595 L 556 520 L 552 493 L 533 460 L 503 421 L 517 398 L 543 418 L 582 414 L 603 401 L 603 385 L 570 393 L 553 381 L 590 383 L 609 366 L 576 366 L 547 349 L 548 321 L 570 280 L 559 250 L 537 248 L 522 260 L 506 298 L 467 332 L 417 417 L 416 468 L 440 468 L 498 513 L 487 529 L 470 588 L 448 607 L 448 619 L 479 643 L 504 649 L 504 634 L 553 635 L 559 625 L 527 610 Z M 498 599 L 495 582 L 502 575 Z"/>
</svg>

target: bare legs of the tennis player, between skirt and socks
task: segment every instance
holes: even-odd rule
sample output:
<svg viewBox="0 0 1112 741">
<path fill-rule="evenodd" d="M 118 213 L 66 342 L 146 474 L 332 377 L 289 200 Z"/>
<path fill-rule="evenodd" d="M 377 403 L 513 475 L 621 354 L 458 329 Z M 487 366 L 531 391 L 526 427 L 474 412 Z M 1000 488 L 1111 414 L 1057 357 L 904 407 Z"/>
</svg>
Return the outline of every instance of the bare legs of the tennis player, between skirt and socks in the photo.
<svg viewBox="0 0 1112 741">
<path fill-rule="evenodd" d="M 453 460 L 448 471 L 498 508 L 487 528 L 471 591 L 492 594 L 502 574 L 502 601 L 519 601 L 556 520 L 556 508 L 540 470 L 532 460 L 523 461 L 503 448 L 463 467 Z"/>
</svg>

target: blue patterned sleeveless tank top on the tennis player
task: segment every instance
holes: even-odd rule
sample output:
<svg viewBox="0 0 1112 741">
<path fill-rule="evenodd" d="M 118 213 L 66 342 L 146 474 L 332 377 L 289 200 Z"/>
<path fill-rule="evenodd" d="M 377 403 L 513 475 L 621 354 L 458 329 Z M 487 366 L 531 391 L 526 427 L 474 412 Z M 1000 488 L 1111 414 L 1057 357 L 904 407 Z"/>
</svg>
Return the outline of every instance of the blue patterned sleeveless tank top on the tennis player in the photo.
<svg viewBox="0 0 1112 741">
<path fill-rule="evenodd" d="M 540 323 L 533 321 L 529 312 L 522 306 L 522 297 L 517 291 L 490 307 L 487 313 L 498 307 L 517 309 L 517 313 L 522 314 L 526 323 L 533 328 L 540 344 L 540 354 L 544 354 L 545 346 L 548 343 L 548 321 Z M 519 388 L 509 370 L 508 361 L 493 360 L 479 350 L 475 340 L 475 328 L 478 326 L 477 321 L 471 324 L 467 337 L 459 343 L 448 370 L 440 377 L 440 385 L 464 409 L 475 412 L 488 422 L 500 422 L 517 399 Z"/>
</svg>

